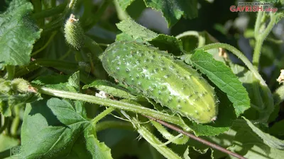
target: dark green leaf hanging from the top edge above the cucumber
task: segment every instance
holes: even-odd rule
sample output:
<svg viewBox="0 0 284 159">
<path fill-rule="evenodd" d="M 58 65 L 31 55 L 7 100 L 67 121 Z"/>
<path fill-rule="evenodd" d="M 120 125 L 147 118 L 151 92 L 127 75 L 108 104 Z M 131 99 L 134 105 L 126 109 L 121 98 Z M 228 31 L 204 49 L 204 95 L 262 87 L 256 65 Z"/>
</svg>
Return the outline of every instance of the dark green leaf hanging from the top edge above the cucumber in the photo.
<svg viewBox="0 0 284 159">
<path fill-rule="evenodd" d="M 175 25 L 178 20 L 185 16 L 186 18 L 197 17 L 197 1 L 184 0 L 144 0 L 147 7 L 155 8 L 163 13 L 168 27 Z"/>
</svg>

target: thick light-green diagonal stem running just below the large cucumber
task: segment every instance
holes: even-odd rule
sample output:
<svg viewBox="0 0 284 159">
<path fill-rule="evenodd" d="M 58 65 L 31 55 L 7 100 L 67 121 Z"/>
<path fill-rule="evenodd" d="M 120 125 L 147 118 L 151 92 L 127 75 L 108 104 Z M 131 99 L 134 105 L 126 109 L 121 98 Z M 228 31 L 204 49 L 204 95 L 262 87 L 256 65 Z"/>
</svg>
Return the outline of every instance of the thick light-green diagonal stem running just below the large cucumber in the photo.
<svg viewBox="0 0 284 159">
<path fill-rule="evenodd" d="M 96 96 L 84 95 L 81 93 L 70 93 L 70 92 L 66 92 L 62 90 L 54 90 L 54 89 L 40 87 L 40 86 L 37 86 L 37 88 L 38 88 L 39 93 L 43 93 L 46 95 L 52 95 L 55 97 L 67 98 L 67 99 L 72 99 L 72 100 L 81 100 L 84 102 L 91 102 L 97 105 L 104 105 L 107 107 L 114 107 L 119 110 L 126 110 L 130 112 L 136 112 L 139 114 L 145 114 L 151 117 L 162 119 L 167 122 L 171 122 L 173 124 L 183 125 L 182 122 L 180 122 L 180 119 L 178 117 L 173 117 L 172 115 L 169 115 L 169 114 L 151 110 L 146 107 L 141 107 L 140 105 L 133 105 L 133 104 L 129 104 L 126 102 L 98 98 Z"/>
</svg>

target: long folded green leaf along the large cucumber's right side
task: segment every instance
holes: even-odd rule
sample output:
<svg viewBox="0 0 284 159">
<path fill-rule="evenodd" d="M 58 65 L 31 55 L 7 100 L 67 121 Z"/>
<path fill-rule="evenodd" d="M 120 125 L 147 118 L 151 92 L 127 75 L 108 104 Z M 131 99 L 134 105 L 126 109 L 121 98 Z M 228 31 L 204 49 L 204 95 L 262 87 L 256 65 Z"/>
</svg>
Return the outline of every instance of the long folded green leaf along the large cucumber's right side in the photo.
<svg viewBox="0 0 284 159">
<path fill-rule="evenodd" d="M 250 107 L 249 94 L 239 79 L 221 61 L 213 59 L 211 54 L 198 50 L 191 57 L 192 64 L 228 96 L 233 103 L 236 115 L 244 113 Z"/>
</svg>

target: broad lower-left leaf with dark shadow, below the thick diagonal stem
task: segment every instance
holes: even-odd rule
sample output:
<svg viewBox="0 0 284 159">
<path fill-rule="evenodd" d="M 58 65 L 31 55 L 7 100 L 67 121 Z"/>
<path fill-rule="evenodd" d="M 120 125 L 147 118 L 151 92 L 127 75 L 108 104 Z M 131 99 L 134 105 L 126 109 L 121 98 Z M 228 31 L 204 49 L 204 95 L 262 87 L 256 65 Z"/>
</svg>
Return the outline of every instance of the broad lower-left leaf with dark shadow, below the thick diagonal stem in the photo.
<svg viewBox="0 0 284 159">
<path fill-rule="evenodd" d="M 51 98 L 28 104 L 23 117 L 22 155 L 24 158 L 111 158 L 104 143 L 88 134 L 90 123 L 82 103 Z M 84 136 L 84 137 L 82 137 Z M 84 139 L 84 142 L 80 141 Z M 70 156 L 70 158 L 76 158 Z"/>
</svg>

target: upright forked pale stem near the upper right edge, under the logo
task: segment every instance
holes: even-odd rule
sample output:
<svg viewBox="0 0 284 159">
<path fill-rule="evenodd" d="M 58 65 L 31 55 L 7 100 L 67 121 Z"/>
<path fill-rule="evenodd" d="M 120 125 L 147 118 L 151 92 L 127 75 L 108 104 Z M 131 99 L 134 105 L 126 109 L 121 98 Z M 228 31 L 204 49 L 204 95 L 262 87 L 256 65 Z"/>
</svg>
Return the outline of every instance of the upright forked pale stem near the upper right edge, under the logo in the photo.
<svg viewBox="0 0 284 159">
<path fill-rule="evenodd" d="M 276 14 L 271 13 L 270 15 L 271 15 L 271 21 L 268 23 L 263 33 L 256 34 L 256 32 L 259 31 L 259 28 L 258 30 L 255 30 L 256 46 L 254 47 L 254 52 L 253 52 L 253 65 L 256 67 L 256 69 L 258 68 L 259 59 L 261 57 L 261 47 L 263 45 L 263 42 L 268 36 L 268 34 L 271 33 L 271 30 L 276 22 L 276 18 L 277 18 Z"/>
</svg>

